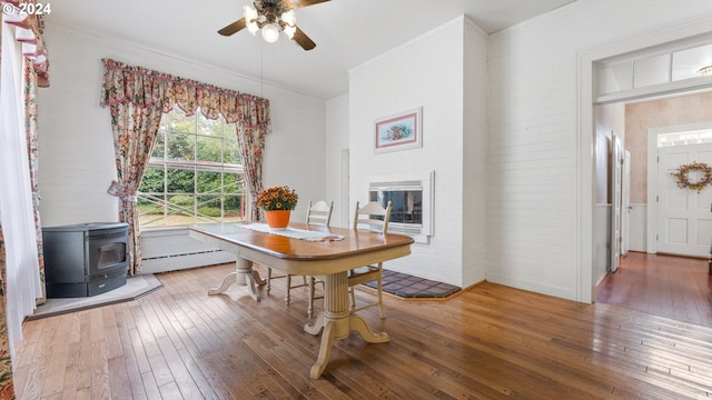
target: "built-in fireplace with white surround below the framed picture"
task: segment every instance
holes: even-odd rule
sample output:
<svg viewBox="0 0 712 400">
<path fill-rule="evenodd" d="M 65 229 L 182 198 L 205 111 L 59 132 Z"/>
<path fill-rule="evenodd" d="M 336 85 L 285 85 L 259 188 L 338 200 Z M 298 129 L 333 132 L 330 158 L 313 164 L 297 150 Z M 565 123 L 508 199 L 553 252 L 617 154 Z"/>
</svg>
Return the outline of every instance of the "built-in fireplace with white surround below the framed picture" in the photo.
<svg viewBox="0 0 712 400">
<path fill-rule="evenodd" d="M 433 234 L 434 172 L 374 177 L 368 183 L 368 200 L 384 208 L 392 202 L 388 231 L 427 242 Z"/>
</svg>

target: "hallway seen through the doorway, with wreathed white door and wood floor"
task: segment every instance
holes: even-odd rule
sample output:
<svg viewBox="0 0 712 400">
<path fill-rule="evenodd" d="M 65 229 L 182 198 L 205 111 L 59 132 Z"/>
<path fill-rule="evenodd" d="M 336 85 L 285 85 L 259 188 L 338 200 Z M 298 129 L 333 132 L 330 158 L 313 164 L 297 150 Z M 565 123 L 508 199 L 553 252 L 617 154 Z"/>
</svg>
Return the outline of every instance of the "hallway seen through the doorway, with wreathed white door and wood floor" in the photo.
<svg viewBox="0 0 712 400">
<path fill-rule="evenodd" d="M 712 136 L 710 104 L 710 91 L 689 91 L 623 103 L 623 142 L 631 151 L 632 160 L 632 207 L 624 207 L 623 212 L 632 216 L 629 234 L 637 237 L 631 238 L 631 252 L 621 259 L 621 269 L 601 279 L 596 287 L 596 301 L 696 323 L 710 321 L 710 316 L 699 304 L 709 303 L 710 296 L 706 257 L 712 242 L 709 228 L 712 226 L 712 188 L 708 187 L 700 193 L 681 189 L 675 184 L 676 179 L 670 176 L 681 164 L 693 161 L 712 166 L 712 143 L 705 143 L 705 138 L 694 138 L 695 134 Z M 673 140 L 675 143 L 671 143 L 679 146 L 657 147 L 659 137 L 672 137 L 674 132 L 682 132 L 681 137 L 689 138 L 678 138 Z M 659 186 L 665 186 L 662 188 L 664 191 L 659 190 Z M 672 206 L 671 211 L 659 216 L 656 208 L 661 204 Z M 647 210 L 653 216 L 650 219 Z M 651 223 L 646 226 L 646 221 Z M 659 233 L 659 227 L 663 226 L 670 227 L 671 231 Z M 653 239 L 642 240 L 643 234 Z M 662 246 L 656 237 L 678 248 Z M 695 248 L 696 253 L 680 250 L 680 246 Z M 696 306 L 684 310 L 681 304 Z M 688 314 L 682 316 L 681 312 Z"/>
</svg>

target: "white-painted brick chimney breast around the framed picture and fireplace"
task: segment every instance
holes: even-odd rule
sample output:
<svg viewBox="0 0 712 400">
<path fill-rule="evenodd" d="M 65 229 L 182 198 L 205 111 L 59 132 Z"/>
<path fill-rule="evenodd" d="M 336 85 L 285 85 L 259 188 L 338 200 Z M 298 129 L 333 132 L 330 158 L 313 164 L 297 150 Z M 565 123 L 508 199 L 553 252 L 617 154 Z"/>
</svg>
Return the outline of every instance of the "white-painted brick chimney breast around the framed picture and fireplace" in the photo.
<svg viewBox="0 0 712 400">
<path fill-rule="evenodd" d="M 484 182 L 485 49 L 486 37 L 461 17 L 349 71 L 349 208 L 367 200 L 370 177 L 435 171 L 434 234 L 386 269 L 461 287 L 484 280 L 484 192 L 478 188 Z M 374 120 L 419 107 L 423 147 L 374 154 Z M 472 209 L 465 213 L 465 207 Z"/>
</svg>

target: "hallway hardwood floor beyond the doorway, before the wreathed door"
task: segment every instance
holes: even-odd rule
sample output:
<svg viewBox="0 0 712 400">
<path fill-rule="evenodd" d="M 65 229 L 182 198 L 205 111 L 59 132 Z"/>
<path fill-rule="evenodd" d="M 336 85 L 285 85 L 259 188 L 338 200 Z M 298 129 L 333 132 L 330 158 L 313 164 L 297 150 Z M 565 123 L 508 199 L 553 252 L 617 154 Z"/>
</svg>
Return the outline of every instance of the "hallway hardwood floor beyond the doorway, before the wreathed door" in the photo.
<svg viewBox="0 0 712 400">
<path fill-rule="evenodd" d="M 629 252 L 599 284 L 596 301 L 712 327 L 708 260 Z"/>
</svg>

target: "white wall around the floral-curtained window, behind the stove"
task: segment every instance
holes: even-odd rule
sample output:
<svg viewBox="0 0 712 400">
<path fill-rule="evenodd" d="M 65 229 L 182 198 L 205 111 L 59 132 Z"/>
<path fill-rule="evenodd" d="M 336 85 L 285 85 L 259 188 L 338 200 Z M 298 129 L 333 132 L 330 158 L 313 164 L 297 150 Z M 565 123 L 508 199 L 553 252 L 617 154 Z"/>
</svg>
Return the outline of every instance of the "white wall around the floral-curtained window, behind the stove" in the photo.
<svg viewBox="0 0 712 400">
<path fill-rule="evenodd" d="M 116 221 L 117 200 L 107 194 L 116 178 L 108 108 L 99 106 L 102 58 L 112 58 L 260 96 L 258 80 L 195 64 L 141 49 L 48 24 L 51 87 L 38 92 L 40 172 L 44 226 Z M 324 197 L 325 103 L 266 83 L 273 133 L 265 150 L 265 186 L 289 184 L 301 199 Z M 294 218 L 301 221 L 306 201 Z"/>
</svg>

